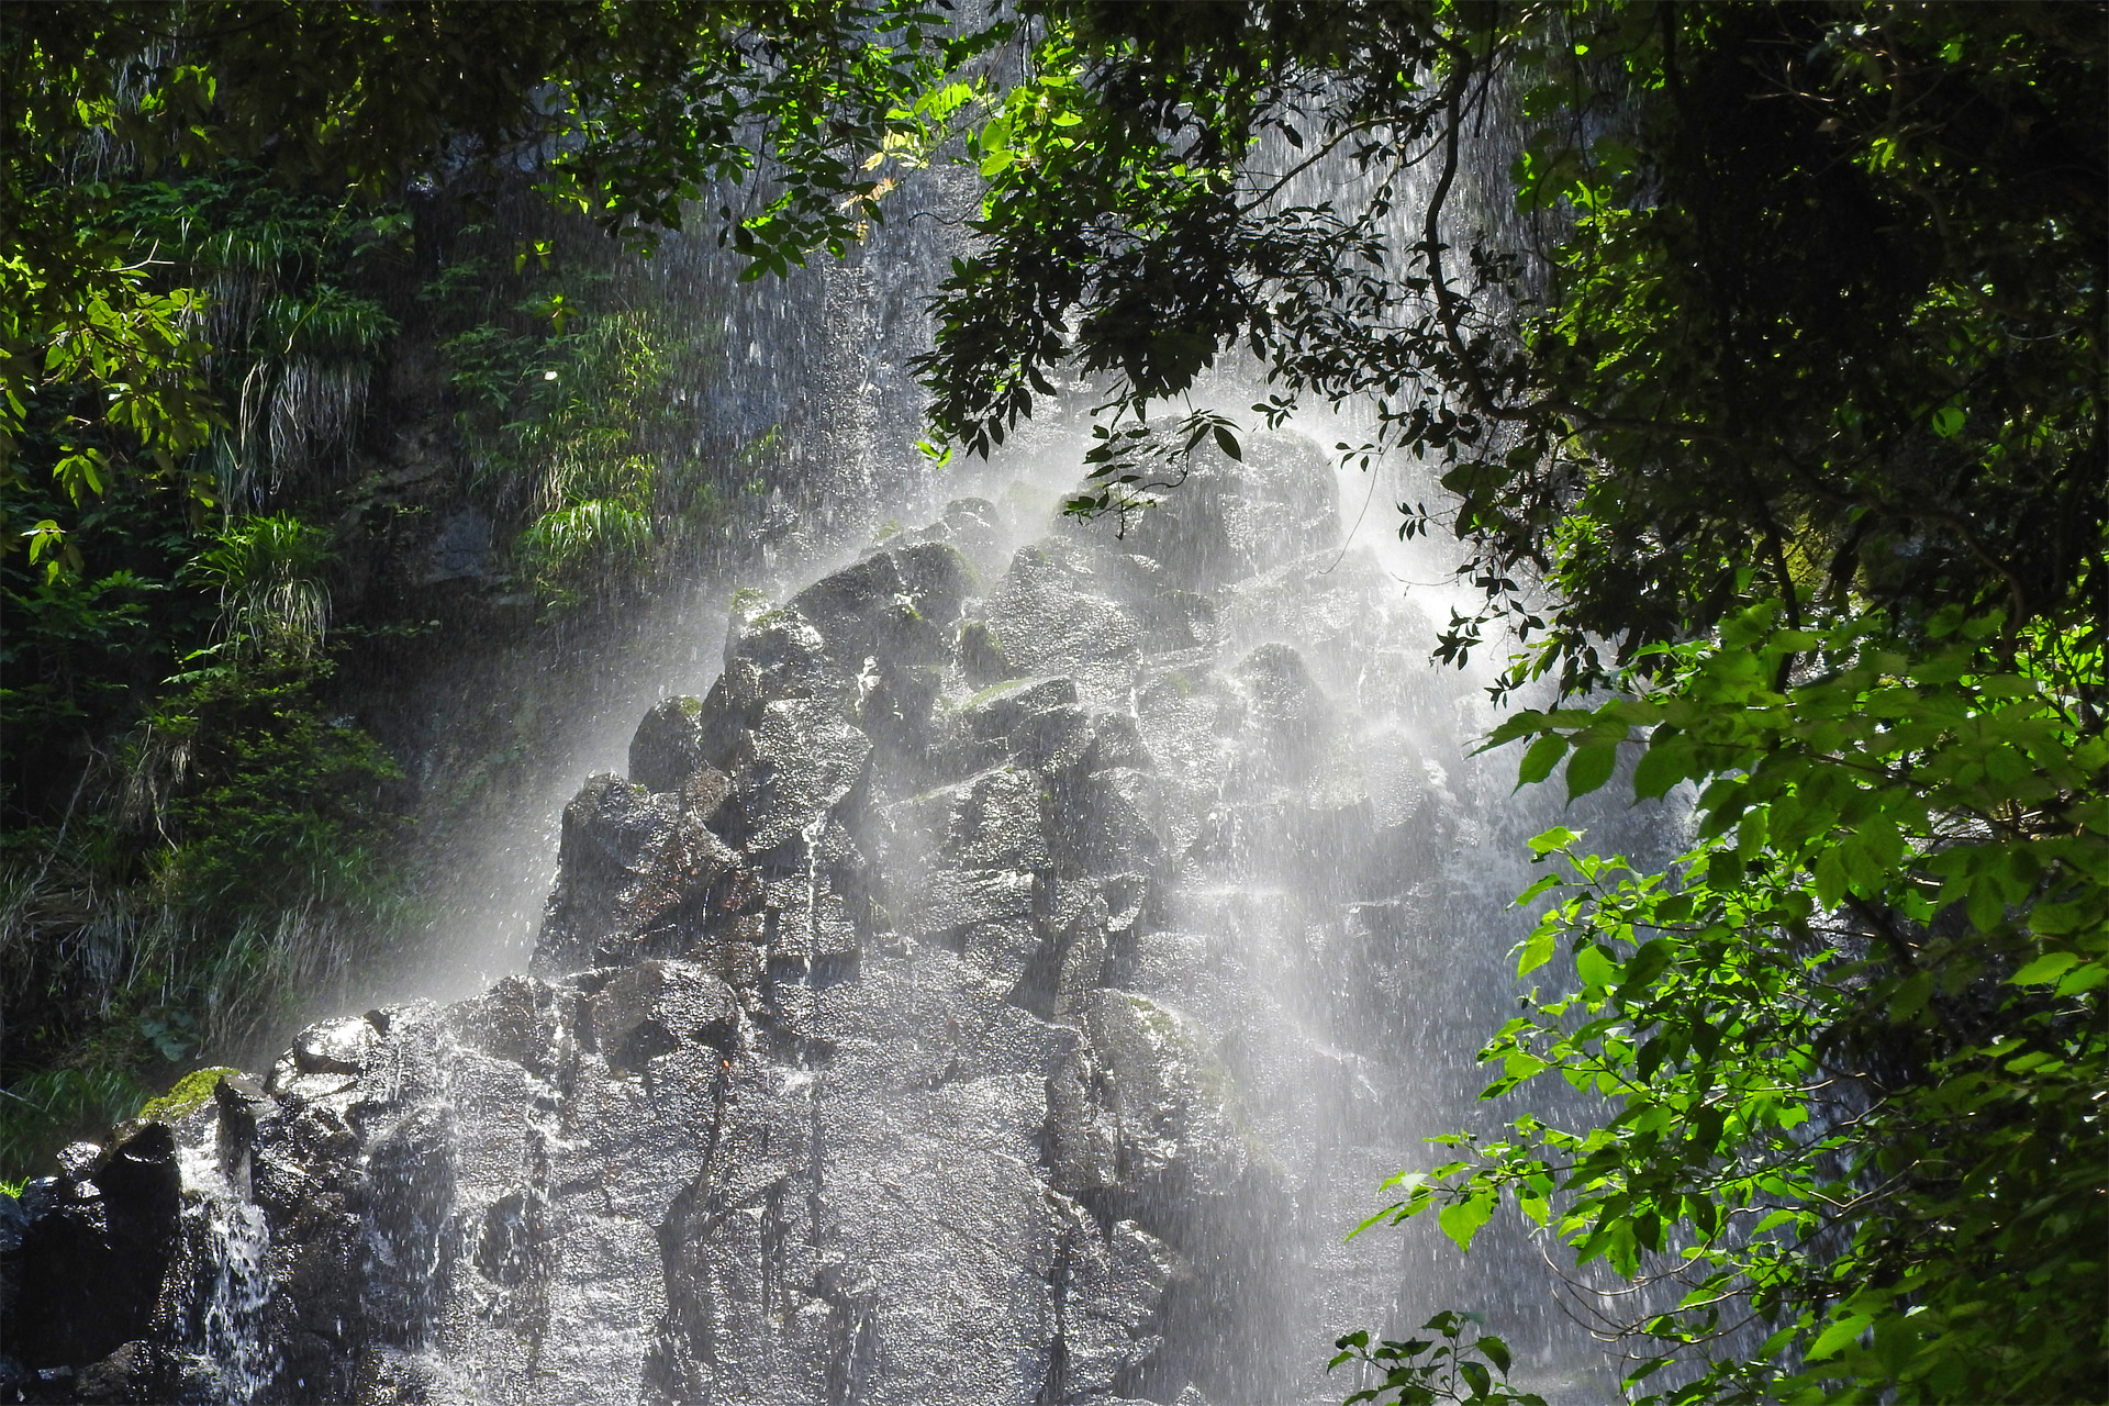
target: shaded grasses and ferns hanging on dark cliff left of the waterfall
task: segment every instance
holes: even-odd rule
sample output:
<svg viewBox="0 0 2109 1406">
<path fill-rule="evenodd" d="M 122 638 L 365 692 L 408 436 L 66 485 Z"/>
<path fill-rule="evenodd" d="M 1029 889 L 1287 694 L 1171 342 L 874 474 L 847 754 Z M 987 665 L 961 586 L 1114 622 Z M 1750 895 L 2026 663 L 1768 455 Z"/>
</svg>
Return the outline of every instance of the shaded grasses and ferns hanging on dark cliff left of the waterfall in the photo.
<svg viewBox="0 0 2109 1406">
<path fill-rule="evenodd" d="M 709 348 L 666 346 L 650 301 L 612 306 L 591 230 L 517 259 L 472 204 L 329 198 L 238 162 L 112 188 L 108 223 L 209 293 L 205 388 L 226 413 L 183 474 L 219 510 L 129 470 L 74 502 L 27 470 L 65 434 L 118 464 L 131 447 L 65 424 L 93 386 L 32 407 L 6 508 L 63 535 L 0 556 L 4 1174 L 131 1115 L 167 1065 L 251 1058 L 346 974 L 407 957 L 441 807 L 468 801 L 441 801 L 445 763 L 390 753 L 405 734 L 371 681 L 432 616 L 502 613 L 508 567 L 607 592 L 593 542 L 506 559 L 544 497 L 631 489 L 641 462 L 652 565 L 725 535 L 713 493 L 753 470 L 669 453 L 662 426 L 666 382 Z M 403 586 L 430 569 L 432 504 L 498 533 L 479 590 Z"/>
</svg>

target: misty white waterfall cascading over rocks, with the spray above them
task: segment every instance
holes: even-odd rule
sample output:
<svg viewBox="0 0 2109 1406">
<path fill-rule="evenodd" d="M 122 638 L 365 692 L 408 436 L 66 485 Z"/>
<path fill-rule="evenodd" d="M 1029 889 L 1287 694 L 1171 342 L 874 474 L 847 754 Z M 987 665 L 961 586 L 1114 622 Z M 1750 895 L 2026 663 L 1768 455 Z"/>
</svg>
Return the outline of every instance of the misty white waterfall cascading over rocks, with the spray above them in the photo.
<svg viewBox="0 0 2109 1406">
<path fill-rule="evenodd" d="M 1611 1391 L 1521 1227 L 1346 1237 L 1485 1126 L 1523 839 L 1575 824 L 1428 662 L 1451 563 L 1384 506 L 1430 474 L 1301 422 L 1069 523 L 1084 394 L 939 470 L 905 363 L 949 238 L 770 297 L 635 274 L 730 350 L 696 434 L 793 426 L 804 500 L 580 666 L 434 999 L 221 1088 L 162 1315 L 196 1400 L 1272 1406 L 1438 1307 Z"/>
</svg>

